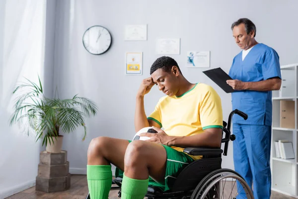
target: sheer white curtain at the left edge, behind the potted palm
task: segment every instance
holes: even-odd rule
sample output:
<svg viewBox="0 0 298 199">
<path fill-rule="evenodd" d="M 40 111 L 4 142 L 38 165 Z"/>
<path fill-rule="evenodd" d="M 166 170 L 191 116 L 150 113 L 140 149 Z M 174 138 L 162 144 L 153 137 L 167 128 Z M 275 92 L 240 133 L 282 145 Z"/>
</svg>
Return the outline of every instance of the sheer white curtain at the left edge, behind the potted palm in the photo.
<svg viewBox="0 0 298 199">
<path fill-rule="evenodd" d="M 0 1 L 0 199 L 34 186 L 40 143 L 9 126 L 12 91 L 43 80 L 46 0 Z"/>
</svg>

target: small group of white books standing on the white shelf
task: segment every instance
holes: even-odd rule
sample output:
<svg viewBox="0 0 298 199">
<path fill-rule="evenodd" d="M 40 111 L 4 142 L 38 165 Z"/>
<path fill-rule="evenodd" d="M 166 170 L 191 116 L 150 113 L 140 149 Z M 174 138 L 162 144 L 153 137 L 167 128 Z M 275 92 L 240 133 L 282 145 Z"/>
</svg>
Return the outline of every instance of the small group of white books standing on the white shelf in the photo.
<svg viewBox="0 0 298 199">
<path fill-rule="evenodd" d="M 277 158 L 295 159 L 293 143 L 289 140 L 278 140 L 274 142 Z"/>
</svg>

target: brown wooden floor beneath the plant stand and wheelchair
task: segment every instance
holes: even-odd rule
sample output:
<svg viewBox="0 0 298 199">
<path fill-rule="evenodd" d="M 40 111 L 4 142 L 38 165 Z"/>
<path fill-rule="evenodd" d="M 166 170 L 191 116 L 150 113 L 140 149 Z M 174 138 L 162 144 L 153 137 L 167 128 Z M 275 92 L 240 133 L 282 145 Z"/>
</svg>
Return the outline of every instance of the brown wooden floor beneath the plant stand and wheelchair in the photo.
<svg viewBox="0 0 298 199">
<path fill-rule="evenodd" d="M 118 190 L 111 191 L 109 199 L 119 199 Z M 85 199 L 88 194 L 87 178 L 85 175 L 72 175 L 71 189 L 65 192 L 45 193 L 35 191 L 35 187 L 24 190 L 18 194 L 10 196 L 6 199 Z M 282 195 L 277 192 L 272 192 L 270 199 L 295 199 L 289 196 Z"/>
</svg>

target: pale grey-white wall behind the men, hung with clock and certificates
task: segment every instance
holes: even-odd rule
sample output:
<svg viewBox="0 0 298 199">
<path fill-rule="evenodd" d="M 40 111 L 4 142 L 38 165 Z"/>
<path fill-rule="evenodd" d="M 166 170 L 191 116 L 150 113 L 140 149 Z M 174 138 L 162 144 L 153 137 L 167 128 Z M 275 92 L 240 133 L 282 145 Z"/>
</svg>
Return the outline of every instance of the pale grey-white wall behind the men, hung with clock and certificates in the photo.
<svg viewBox="0 0 298 199">
<path fill-rule="evenodd" d="M 203 1 L 203 0 L 64 0 L 57 2 L 55 33 L 54 87 L 62 98 L 75 94 L 94 100 L 98 115 L 86 120 L 83 129 L 65 135 L 72 173 L 85 173 L 87 148 L 97 136 L 131 139 L 134 135 L 135 96 L 142 79 L 149 77 L 157 37 L 181 38 L 181 54 L 172 57 L 192 83 L 212 85 L 220 94 L 227 120 L 231 98 L 203 73 L 206 69 L 186 68 L 187 51 L 211 51 L 211 68 L 228 72 L 233 57 L 240 51 L 230 26 L 240 17 L 250 18 L 257 27 L 256 40 L 273 47 L 281 64 L 298 62 L 298 1 Z M 124 26 L 148 24 L 147 41 L 124 41 Z M 82 45 L 84 31 L 102 25 L 112 34 L 112 47 L 99 56 L 89 54 Z M 125 52 L 144 53 L 144 75 L 125 75 Z M 149 114 L 163 94 L 156 87 L 145 98 Z M 232 144 L 223 159 L 224 168 L 233 168 Z"/>
</svg>

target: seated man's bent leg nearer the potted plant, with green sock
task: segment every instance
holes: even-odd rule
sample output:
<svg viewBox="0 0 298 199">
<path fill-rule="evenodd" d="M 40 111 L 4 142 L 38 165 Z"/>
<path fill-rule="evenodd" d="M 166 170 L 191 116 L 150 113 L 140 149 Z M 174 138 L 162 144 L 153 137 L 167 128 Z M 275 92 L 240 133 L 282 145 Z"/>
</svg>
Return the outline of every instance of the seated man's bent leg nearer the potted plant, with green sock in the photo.
<svg viewBox="0 0 298 199">
<path fill-rule="evenodd" d="M 109 137 L 92 139 L 87 153 L 87 181 L 91 199 L 107 199 L 112 185 L 111 164 L 124 170 L 129 142 Z"/>
</svg>

